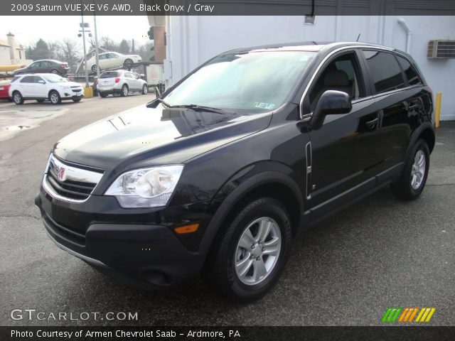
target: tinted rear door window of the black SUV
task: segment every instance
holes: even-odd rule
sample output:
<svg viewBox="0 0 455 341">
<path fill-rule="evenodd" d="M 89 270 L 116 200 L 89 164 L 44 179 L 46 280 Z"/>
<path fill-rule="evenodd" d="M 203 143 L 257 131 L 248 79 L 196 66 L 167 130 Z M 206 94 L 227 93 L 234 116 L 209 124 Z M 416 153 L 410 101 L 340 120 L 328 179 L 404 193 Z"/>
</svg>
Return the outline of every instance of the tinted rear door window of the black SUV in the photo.
<svg viewBox="0 0 455 341">
<path fill-rule="evenodd" d="M 364 50 L 377 94 L 405 87 L 400 65 L 392 53 Z"/>
</svg>

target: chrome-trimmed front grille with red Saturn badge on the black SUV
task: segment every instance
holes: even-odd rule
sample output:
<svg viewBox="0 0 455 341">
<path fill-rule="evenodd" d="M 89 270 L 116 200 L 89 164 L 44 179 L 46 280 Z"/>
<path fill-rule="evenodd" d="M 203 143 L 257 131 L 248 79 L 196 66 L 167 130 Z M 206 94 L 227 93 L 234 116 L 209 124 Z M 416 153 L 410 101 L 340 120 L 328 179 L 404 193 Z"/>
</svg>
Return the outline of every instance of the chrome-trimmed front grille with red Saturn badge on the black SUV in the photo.
<svg viewBox="0 0 455 341">
<path fill-rule="evenodd" d="M 68 201 L 84 201 L 101 177 L 102 173 L 76 168 L 51 156 L 43 185 L 54 197 Z"/>
</svg>

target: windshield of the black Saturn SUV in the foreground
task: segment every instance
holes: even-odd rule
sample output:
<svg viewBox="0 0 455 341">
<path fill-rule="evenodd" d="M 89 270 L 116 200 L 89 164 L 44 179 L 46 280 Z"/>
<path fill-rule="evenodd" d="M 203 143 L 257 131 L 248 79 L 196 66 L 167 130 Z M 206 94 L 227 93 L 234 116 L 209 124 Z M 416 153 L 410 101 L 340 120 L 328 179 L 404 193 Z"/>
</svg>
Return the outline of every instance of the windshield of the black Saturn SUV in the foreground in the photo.
<svg viewBox="0 0 455 341">
<path fill-rule="evenodd" d="M 307 51 L 220 55 L 164 100 L 170 106 L 196 104 L 267 112 L 284 104 L 314 55 Z"/>
</svg>

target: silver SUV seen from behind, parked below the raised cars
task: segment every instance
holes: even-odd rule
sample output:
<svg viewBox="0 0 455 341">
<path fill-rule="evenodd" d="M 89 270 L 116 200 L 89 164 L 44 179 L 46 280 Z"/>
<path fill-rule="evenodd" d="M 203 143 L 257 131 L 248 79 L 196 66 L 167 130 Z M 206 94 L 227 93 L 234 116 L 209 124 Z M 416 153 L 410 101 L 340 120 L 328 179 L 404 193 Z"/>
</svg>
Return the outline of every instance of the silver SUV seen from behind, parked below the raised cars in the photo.
<svg viewBox="0 0 455 341">
<path fill-rule="evenodd" d="M 120 94 L 125 97 L 128 96 L 129 92 L 147 94 L 149 85 L 137 73 L 131 71 L 105 71 L 97 80 L 97 91 L 103 98 L 108 94 Z"/>
</svg>

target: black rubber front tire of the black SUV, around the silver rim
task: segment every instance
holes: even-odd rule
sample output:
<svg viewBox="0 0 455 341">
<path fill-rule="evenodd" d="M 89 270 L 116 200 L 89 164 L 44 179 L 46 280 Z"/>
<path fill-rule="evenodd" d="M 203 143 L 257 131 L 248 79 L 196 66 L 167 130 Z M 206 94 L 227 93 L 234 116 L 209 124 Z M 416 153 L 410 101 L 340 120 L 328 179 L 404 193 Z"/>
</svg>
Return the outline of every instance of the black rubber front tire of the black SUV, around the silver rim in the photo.
<svg viewBox="0 0 455 341">
<path fill-rule="evenodd" d="M 267 275 L 263 279 L 260 279 L 258 283 L 245 284 L 235 270 L 235 257 L 238 251 L 237 245 L 243 233 L 252 222 L 261 218 L 271 218 L 277 223 L 281 234 L 281 246 L 277 260 Z M 213 288 L 224 296 L 243 302 L 257 300 L 274 286 L 289 258 L 291 251 L 291 222 L 289 215 L 281 202 L 272 197 L 262 197 L 245 205 L 240 212 L 236 212 L 233 215 L 233 220 L 227 223 L 227 228 L 215 239 L 213 247 L 207 256 L 207 261 L 203 269 L 203 278 L 210 288 Z M 258 249 L 259 247 L 261 247 L 260 244 L 258 245 Z M 259 256 L 263 260 L 262 262 L 267 261 L 268 256 L 266 259 L 263 258 L 264 256 L 266 255 Z M 254 262 L 256 256 L 251 253 L 250 256 L 247 254 L 245 259 L 247 257 L 252 257 L 249 259 L 252 259 Z M 252 266 L 252 269 L 249 271 L 254 270 L 255 266 Z"/>
</svg>

